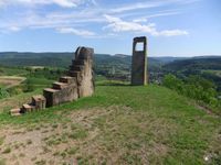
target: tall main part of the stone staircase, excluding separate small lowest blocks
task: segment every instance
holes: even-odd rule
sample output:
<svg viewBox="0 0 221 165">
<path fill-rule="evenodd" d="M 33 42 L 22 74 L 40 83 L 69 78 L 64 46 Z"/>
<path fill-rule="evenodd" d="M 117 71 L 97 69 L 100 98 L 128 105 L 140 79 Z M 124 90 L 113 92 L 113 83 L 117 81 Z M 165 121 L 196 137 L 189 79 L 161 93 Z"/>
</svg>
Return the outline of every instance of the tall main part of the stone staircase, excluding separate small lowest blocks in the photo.
<svg viewBox="0 0 221 165">
<path fill-rule="evenodd" d="M 78 47 L 76 50 L 69 76 L 61 77 L 60 82 L 54 82 L 52 88 L 44 89 L 43 95 L 46 98 L 46 107 L 73 101 L 94 92 L 93 54 L 93 48 Z"/>
</svg>

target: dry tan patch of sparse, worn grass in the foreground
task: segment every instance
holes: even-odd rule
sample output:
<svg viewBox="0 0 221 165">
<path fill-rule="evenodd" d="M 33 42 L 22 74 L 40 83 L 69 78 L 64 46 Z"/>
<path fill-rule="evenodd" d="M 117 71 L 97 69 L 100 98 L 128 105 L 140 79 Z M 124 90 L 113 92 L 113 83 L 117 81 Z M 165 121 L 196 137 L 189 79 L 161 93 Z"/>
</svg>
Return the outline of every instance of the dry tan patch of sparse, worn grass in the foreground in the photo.
<svg viewBox="0 0 221 165">
<path fill-rule="evenodd" d="M 165 156 L 173 127 L 145 112 L 112 106 L 59 112 L 69 120 L 0 129 L 0 162 L 31 164 L 150 164 Z M 172 132 L 172 131 L 170 131 Z"/>
</svg>

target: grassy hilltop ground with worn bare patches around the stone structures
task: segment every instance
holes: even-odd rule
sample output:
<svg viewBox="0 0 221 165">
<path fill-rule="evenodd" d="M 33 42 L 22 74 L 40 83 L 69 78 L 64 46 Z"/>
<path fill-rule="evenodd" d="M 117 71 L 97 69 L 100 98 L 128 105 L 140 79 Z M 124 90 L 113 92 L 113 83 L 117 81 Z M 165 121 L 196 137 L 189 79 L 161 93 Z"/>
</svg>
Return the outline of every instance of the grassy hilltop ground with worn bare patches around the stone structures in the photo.
<svg viewBox="0 0 221 165">
<path fill-rule="evenodd" d="M 159 86 L 99 84 L 93 97 L 43 111 L 0 113 L 0 162 L 30 164 L 211 164 L 221 120 Z M 35 150 L 33 150 L 35 148 Z M 15 155 L 15 158 L 10 158 Z"/>
</svg>

